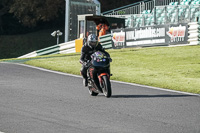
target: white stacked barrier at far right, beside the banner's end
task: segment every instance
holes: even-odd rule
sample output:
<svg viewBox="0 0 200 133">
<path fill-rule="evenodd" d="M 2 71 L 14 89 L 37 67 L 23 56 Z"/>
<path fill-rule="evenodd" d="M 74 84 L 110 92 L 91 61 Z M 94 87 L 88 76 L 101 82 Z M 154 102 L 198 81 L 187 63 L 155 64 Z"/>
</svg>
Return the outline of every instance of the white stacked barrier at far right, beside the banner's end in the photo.
<svg viewBox="0 0 200 133">
<path fill-rule="evenodd" d="M 198 22 L 189 23 L 188 42 L 190 45 L 200 45 L 200 24 Z"/>
</svg>

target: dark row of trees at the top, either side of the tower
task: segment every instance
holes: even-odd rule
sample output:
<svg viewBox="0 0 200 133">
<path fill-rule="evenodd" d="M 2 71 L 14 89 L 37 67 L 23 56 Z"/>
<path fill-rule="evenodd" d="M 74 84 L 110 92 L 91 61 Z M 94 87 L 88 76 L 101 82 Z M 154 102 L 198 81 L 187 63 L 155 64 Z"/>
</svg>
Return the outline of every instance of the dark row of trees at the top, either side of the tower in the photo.
<svg viewBox="0 0 200 133">
<path fill-rule="evenodd" d="M 137 1 L 99 0 L 102 12 Z M 64 13 L 65 0 L 0 0 L 0 34 L 6 34 L 8 30 L 15 33 L 22 27 L 34 29 L 41 24 L 58 21 L 56 18 L 64 17 Z"/>
</svg>

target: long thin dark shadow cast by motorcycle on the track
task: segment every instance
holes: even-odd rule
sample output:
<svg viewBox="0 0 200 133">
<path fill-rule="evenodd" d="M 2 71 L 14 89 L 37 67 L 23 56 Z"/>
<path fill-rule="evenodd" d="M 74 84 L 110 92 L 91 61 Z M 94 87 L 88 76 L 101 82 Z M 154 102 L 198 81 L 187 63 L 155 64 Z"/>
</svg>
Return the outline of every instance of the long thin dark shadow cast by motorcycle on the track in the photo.
<svg viewBox="0 0 200 133">
<path fill-rule="evenodd" d="M 191 97 L 192 95 L 113 95 L 111 98 L 168 98 L 168 97 Z"/>
</svg>

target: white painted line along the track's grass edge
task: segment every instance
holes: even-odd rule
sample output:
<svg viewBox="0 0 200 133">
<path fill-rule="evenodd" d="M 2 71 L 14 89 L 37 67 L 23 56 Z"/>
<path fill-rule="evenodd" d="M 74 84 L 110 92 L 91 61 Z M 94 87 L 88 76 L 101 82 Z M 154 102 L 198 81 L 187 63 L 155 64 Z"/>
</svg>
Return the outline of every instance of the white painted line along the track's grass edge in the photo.
<svg viewBox="0 0 200 133">
<path fill-rule="evenodd" d="M 7 62 L 4 62 L 4 63 L 7 63 Z M 66 75 L 66 76 L 72 76 L 72 77 L 82 78 L 82 76 L 78 76 L 78 75 L 74 75 L 74 74 L 68 74 L 68 73 L 63 73 L 63 72 L 58 72 L 58 71 L 53 71 L 53 70 L 48 70 L 48 69 L 45 69 L 45 68 L 30 66 L 30 65 L 26 65 L 26 64 L 19 64 L 19 63 L 8 63 L 8 64 L 21 65 L 21 66 L 26 66 L 26 67 L 38 69 L 38 70 L 41 70 L 41 71 L 46 71 L 46 72 L 56 73 L 56 74 L 60 74 L 60 75 Z M 162 90 L 162 91 L 168 91 L 168 92 L 174 92 L 174 93 L 181 93 L 181 94 L 192 95 L 192 96 L 200 96 L 200 94 L 194 94 L 194 93 L 182 92 L 182 91 L 175 91 L 175 90 L 170 90 L 170 89 L 164 89 L 164 88 L 152 87 L 152 86 L 147 86 L 147 85 L 140 85 L 140 84 L 128 83 L 128 82 L 123 82 L 123 81 L 111 80 L 111 82 L 120 83 L 120 84 L 126 84 L 126 85 L 132 85 L 132 86 L 139 86 L 139 87 L 144 87 L 144 88 L 150 88 L 150 89 L 154 89 L 154 90 Z"/>
</svg>

